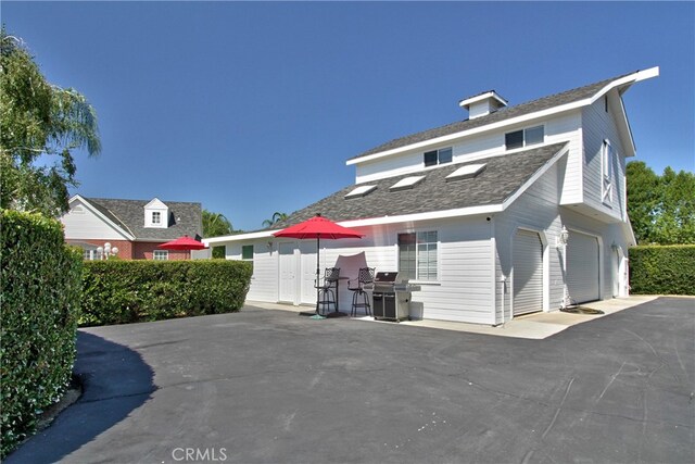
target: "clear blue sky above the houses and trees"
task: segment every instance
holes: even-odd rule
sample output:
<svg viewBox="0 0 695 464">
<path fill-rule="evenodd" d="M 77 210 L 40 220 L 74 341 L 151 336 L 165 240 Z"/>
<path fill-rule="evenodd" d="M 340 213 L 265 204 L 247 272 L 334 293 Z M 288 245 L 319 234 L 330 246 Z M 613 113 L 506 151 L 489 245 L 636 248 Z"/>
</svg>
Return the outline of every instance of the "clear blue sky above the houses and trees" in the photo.
<svg viewBox="0 0 695 464">
<path fill-rule="evenodd" d="M 48 79 L 99 114 L 87 197 L 199 201 L 253 230 L 354 183 L 345 161 L 466 117 L 636 70 L 637 160 L 695 168 L 695 4 L 8 2 Z"/>
</svg>

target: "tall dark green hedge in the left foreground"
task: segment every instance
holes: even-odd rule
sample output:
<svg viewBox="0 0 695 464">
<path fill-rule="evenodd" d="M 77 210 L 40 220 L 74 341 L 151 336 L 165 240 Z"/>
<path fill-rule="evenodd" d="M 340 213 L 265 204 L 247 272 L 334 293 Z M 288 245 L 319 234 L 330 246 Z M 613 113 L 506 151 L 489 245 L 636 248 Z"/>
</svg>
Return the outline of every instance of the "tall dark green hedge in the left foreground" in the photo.
<svg viewBox="0 0 695 464">
<path fill-rule="evenodd" d="M 81 253 L 55 220 L 0 211 L 1 455 L 64 391 L 75 361 Z"/>
</svg>

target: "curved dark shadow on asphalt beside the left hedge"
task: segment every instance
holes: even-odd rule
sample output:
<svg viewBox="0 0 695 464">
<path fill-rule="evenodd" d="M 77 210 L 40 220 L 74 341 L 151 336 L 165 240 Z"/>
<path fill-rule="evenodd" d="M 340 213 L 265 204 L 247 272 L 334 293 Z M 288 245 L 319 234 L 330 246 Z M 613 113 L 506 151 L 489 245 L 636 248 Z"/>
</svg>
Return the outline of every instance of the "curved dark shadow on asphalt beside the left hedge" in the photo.
<svg viewBox="0 0 695 464">
<path fill-rule="evenodd" d="M 7 463 L 56 462 L 123 421 L 156 389 L 153 372 L 140 354 L 86 331 L 77 334 L 74 374 L 84 393 Z"/>
</svg>

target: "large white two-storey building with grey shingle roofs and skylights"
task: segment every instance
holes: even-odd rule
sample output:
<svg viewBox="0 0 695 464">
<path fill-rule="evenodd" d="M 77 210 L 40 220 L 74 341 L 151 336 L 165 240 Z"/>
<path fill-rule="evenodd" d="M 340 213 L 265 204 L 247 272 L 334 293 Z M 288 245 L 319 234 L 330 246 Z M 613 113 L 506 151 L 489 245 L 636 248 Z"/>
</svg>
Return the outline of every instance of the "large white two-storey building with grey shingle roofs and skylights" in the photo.
<svg viewBox="0 0 695 464">
<path fill-rule="evenodd" d="M 421 286 L 412 306 L 424 318 L 495 325 L 627 296 L 635 147 L 621 95 L 655 76 L 658 67 L 509 108 L 494 91 L 465 99 L 468 120 L 348 160 L 355 185 L 273 229 L 205 241 L 253 260 L 252 300 L 315 301 L 315 242 L 271 233 L 316 213 L 365 234 L 323 240 L 320 267 L 364 251 L 369 266 Z M 341 301 L 349 306 L 346 289 Z"/>
</svg>

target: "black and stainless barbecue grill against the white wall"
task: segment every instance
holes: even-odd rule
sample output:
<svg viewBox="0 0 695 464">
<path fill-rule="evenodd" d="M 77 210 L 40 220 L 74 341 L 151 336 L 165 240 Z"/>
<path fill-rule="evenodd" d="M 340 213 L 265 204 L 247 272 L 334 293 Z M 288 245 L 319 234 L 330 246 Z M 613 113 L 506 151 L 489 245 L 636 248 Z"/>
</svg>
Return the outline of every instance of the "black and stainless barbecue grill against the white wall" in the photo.
<svg viewBox="0 0 695 464">
<path fill-rule="evenodd" d="M 399 273 L 377 273 L 372 284 L 365 285 L 371 291 L 371 311 L 375 319 L 403 321 L 410 316 L 410 292 L 419 291 L 419 285 L 408 284 Z"/>
</svg>

